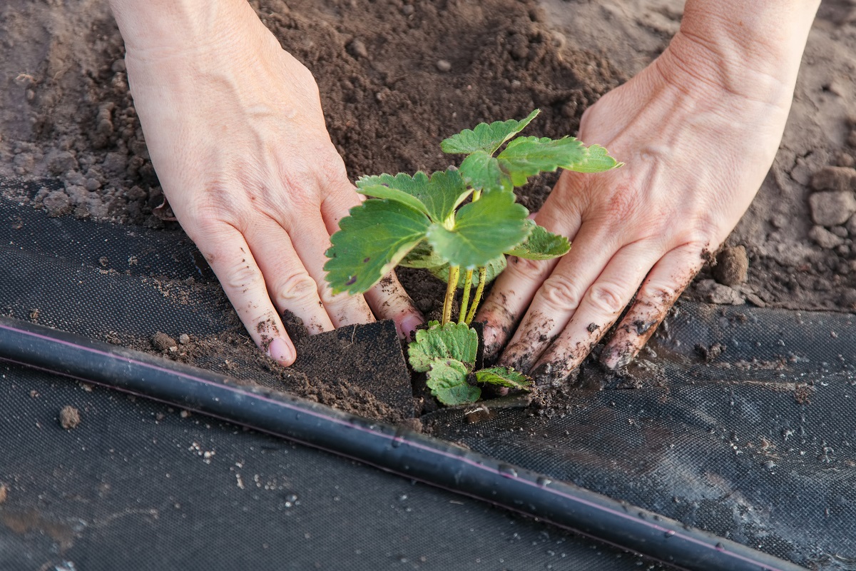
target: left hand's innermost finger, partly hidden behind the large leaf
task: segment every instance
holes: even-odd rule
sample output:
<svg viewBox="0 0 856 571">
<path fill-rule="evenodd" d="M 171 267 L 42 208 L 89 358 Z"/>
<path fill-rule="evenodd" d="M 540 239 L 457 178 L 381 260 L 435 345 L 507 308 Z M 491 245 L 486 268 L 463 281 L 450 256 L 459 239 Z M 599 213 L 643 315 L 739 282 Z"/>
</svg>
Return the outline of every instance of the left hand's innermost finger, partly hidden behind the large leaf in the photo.
<svg viewBox="0 0 856 571">
<path fill-rule="evenodd" d="M 341 192 L 330 193 L 321 205 L 324 223 L 330 234 L 339 229 L 339 221 L 348 216 L 348 211 L 360 204 L 360 195 L 349 183 Z M 413 305 L 413 300 L 401 287 L 395 272 L 388 275 L 366 292 L 366 302 L 378 319 L 392 319 L 401 338 L 409 338 L 417 325 L 425 322 L 422 313 Z"/>
</svg>

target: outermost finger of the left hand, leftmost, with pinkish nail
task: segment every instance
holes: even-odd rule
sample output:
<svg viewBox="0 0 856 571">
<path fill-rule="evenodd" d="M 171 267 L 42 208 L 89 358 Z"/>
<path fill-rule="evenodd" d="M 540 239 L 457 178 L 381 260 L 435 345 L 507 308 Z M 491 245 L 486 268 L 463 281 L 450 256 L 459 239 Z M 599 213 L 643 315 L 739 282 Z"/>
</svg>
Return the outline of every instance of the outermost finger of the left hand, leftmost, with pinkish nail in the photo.
<svg viewBox="0 0 856 571">
<path fill-rule="evenodd" d="M 241 232 L 222 223 L 216 231 L 203 233 L 193 241 L 220 280 L 253 342 L 282 366 L 294 363 L 294 344 L 270 302 L 264 275 Z"/>
</svg>

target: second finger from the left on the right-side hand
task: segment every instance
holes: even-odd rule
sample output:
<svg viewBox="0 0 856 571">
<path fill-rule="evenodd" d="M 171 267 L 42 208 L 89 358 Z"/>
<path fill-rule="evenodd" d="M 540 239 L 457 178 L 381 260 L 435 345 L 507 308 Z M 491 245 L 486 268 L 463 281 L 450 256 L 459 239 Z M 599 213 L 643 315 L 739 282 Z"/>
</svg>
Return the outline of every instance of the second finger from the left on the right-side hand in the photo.
<svg viewBox="0 0 856 571">
<path fill-rule="evenodd" d="M 609 236 L 602 226 L 583 226 L 570 253 L 560 259 L 550 277 L 541 283 L 500 361 L 520 371 L 528 371 L 544 349 L 565 329 L 583 303 L 586 291 L 617 249 L 615 237 Z"/>
</svg>

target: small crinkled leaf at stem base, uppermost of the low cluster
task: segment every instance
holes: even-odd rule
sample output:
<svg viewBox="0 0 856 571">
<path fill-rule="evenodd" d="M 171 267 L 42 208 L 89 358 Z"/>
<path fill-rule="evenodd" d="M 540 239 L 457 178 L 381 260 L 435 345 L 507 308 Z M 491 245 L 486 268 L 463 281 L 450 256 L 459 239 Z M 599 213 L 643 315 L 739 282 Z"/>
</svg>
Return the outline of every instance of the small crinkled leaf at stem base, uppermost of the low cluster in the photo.
<svg viewBox="0 0 856 571">
<path fill-rule="evenodd" d="M 416 340 L 407 348 L 413 371 L 427 372 L 437 360 L 454 359 L 472 370 L 479 348 L 479 335 L 467 324 L 434 324 L 417 330 Z"/>
</svg>

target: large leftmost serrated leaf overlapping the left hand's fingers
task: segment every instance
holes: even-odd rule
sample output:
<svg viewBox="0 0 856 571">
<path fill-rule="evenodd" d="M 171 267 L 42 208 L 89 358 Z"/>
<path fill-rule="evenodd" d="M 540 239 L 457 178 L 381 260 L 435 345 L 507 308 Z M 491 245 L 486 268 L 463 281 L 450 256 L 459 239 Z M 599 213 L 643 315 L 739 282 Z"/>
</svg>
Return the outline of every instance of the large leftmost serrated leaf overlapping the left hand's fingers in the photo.
<svg viewBox="0 0 856 571">
<path fill-rule="evenodd" d="M 334 294 L 371 288 L 425 238 L 425 214 L 389 200 L 370 199 L 342 218 L 324 264 Z"/>
</svg>

